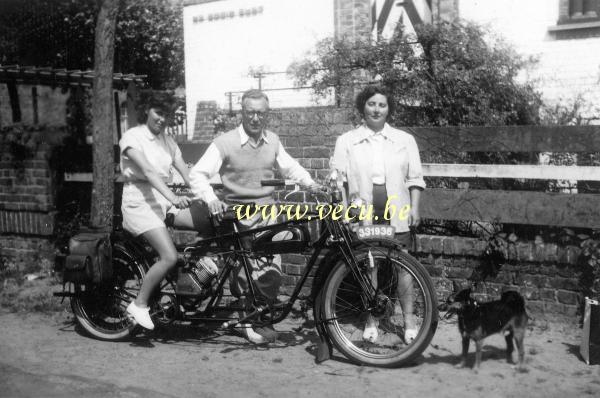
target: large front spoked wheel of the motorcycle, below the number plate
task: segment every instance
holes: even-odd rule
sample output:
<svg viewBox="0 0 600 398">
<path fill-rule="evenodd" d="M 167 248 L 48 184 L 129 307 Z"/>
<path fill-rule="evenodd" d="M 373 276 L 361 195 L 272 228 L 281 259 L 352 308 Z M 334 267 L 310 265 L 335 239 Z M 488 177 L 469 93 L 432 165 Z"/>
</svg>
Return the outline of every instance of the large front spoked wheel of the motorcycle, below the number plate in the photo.
<svg viewBox="0 0 600 398">
<path fill-rule="evenodd" d="M 397 248 L 363 247 L 354 255 L 360 275 L 338 261 L 323 286 L 324 321 L 333 344 L 358 364 L 410 364 L 437 327 L 437 300 L 427 270 Z M 359 279 L 371 292 L 363 291 Z M 411 335 L 414 339 L 406 341 Z"/>
</svg>

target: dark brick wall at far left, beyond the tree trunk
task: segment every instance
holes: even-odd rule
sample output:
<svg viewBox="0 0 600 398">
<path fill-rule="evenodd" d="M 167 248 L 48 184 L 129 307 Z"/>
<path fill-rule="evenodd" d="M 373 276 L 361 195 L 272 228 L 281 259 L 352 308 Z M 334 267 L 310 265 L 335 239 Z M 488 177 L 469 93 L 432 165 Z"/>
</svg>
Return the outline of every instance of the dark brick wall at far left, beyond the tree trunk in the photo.
<svg viewBox="0 0 600 398">
<path fill-rule="evenodd" d="M 21 270 L 53 257 L 54 188 L 50 151 L 64 128 L 0 131 L 0 258 Z"/>
</svg>

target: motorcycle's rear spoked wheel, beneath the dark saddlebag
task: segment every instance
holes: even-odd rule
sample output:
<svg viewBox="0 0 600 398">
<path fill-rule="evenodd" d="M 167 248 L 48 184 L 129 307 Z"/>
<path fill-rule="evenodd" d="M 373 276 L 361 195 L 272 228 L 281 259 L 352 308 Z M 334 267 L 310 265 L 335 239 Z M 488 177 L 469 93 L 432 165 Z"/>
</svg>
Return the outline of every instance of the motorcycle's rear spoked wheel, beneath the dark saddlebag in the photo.
<svg viewBox="0 0 600 398">
<path fill-rule="evenodd" d="M 145 275 L 144 266 L 116 244 L 113 246 L 113 278 L 102 285 L 78 287 L 71 307 L 79 324 L 101 340 L 122 340 L 134 328 L 126 309 L 135 299 Z"/>
</svg>

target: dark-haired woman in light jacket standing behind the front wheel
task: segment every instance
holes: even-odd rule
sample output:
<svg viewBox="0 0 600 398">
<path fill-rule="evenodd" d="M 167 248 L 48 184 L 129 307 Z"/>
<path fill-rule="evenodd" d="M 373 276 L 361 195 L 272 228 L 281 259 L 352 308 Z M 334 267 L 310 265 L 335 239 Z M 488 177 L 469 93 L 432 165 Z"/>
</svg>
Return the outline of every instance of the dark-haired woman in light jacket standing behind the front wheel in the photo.
<svg viewBox="0 0 600 398">
<path fill-rule="evenodd" d="M 364 123 L 337 139 L 331 168 L 347 183 L 350 203 L 372 205 L 371 222 L 395 227 L 395 238 L 407 248 L 411 241 L 409 227 L 421 222 L 419 198 L 425 188 L 417 143 L 412 135 L 386 123 L 394 111 L 394 103 L 385 88 L 364 88 L 356 98 L 356 108 Z M 394 214 L 391 209 L 396 210 Z M 410 343 L 418 334 L 413 315 L 412 277 L 400 272 L 398 279 L 404 340 Z M 377 326 L 377 321 L 369 316 L 363 339 L 377 340 Z"/>
</svg>

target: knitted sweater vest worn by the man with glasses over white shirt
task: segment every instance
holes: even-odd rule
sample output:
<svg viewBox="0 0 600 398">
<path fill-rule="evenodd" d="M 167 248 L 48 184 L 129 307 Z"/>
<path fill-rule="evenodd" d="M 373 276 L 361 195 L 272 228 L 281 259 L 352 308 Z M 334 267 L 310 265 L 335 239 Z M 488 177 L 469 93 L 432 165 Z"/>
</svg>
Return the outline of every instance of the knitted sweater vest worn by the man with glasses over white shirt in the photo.
<svg viewBox="0 0 600 398">
<path fill-rule="evenodd" d="M 266 131 L 266 137 L 267 142 L 261 140 L 256 148 L 250 142 L 242 146 L 235 129 L 213 141 L 223 159 L 219 174 L 225 202 L 264 204 L 272 201 L 274 188 L 263 187 L 260 181 L 275 175 L 279 137 L 270 131 Z"/>
</svg>

